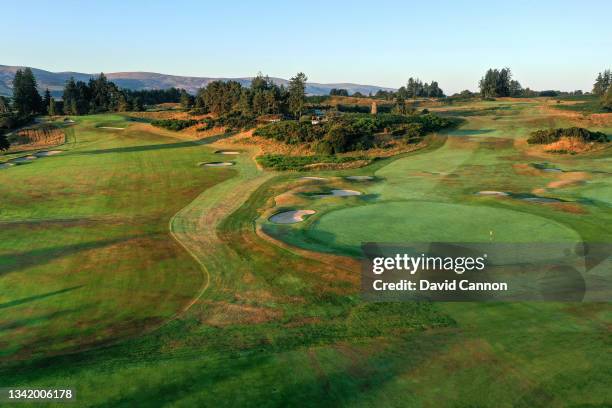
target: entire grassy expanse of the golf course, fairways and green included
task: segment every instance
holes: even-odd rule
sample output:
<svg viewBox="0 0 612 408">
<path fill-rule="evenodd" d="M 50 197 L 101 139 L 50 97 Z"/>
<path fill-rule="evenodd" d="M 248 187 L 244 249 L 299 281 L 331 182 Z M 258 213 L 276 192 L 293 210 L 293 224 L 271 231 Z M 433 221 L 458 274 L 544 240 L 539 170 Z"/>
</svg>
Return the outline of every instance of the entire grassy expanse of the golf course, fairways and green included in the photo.
<svg viewBox="0 0 612 408">
<path fill-rule="evenodd" d="M 316 173 L 263 171 L 231 138 L 75 118 L 61 154 L 0 169 L 0 386 L 72 387 L 79 406 L 612 404 L 609 303 L 360 300 L 362 241 L 612 240 L 610 149 L 525 143 L 610 134 L 609 117 L 537 99 L 430 110 L 465 123 Z M 198 166 L 215 161 L 234 165 Z M 317 197 L 335 188 L 363 194 Z M 268 220 L 288 209 L 317 212 Z"/>
</svg>

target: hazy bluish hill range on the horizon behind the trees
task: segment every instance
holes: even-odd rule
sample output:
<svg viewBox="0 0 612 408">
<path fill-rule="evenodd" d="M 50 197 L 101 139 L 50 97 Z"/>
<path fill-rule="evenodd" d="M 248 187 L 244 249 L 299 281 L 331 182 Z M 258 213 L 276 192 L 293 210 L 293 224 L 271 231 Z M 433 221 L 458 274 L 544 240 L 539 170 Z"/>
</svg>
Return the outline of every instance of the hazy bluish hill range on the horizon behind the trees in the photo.
<svg viewBox="0 0 612 408">
<path fill-rule="evenodd" d="M 12 81 L 15 72 L 23 67 L 0 65 L 0 95 L 10 96 L 12 94 Z M 42 69 L 32 68 L 32 72 L 38 81 L 38 86 L 42 91 L 49 88 L 53 96 L 61 96 L 64 89 L 64 83 L 74 77 L 75 80 L 88 81 L 89 78 L 97 74 L 84 74 L 81 72 L 49 72 Z M 199 88 L 206 86 L 209 82 L 215 80 L 234 80 L 242 85 L 249 85 L 252 77 L 244 78 L 209 78 L 209 77 L 186 77 L 177 75 L 157 74 L 154 72 L 110 72 L 104 73 L 110 80 L 116 83 L 121 88 L 132 90 L 140 89 L 165 89 L 165 88 L 183 88 L 191 94 L 195 94 Z M 278 85 L 284 84 L 287 86 L 289 82 L 283 78 L 272 78 Z M 372 92 L 376 93 L 379 89 L 391 90 L 375 85 L 359 85 L 351 83 L 337 84 L 320 84 L 316 82 L 308 82 L 306 92 L 309 95 L 327 95 L 332 88 L 343 88 L 349 91 L 350 94 L 361 92 L 364 95 Z"/>
</svg>

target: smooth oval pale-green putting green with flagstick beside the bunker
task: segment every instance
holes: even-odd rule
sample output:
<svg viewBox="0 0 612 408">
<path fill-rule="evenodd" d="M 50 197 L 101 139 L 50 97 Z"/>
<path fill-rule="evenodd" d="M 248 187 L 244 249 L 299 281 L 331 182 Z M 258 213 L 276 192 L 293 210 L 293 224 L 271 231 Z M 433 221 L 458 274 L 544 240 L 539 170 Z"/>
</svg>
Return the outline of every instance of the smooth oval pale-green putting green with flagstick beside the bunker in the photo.
<svg viewBox="0 0 612 408">
<path fill-rule="evenodd" d="M 376 222 L 372 222 L 376 220 Z M 558 222 L 495 207 L 391 202 L 329 212 L 306 235 L 336 249 L 362 242 L 559 242 L 580 236 Z"/>
</svg>

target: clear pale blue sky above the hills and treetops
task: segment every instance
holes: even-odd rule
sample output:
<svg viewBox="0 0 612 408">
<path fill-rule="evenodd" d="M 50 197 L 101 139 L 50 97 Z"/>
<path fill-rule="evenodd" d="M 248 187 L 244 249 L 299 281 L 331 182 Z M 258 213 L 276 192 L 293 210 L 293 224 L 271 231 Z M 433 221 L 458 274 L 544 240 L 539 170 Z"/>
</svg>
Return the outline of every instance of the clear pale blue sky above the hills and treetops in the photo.
<svg viewBox="0 0 612 408">
<path fill-rule="evenodd" d="M 96 4 L 97 3 L 97 4 Z M 532 89 L 590 90 L 612 67 L 612 1 L 29 1 L 0 6 L 0 64 L 399 87 L 447 94 L 508 66 Z"/>
</svg>

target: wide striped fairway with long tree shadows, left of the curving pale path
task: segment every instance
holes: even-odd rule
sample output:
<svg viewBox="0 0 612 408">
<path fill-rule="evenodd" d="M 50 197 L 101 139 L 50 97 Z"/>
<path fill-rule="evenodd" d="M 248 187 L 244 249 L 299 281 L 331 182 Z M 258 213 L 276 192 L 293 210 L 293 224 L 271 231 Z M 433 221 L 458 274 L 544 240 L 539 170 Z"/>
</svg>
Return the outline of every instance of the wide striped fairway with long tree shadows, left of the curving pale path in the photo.
<svg viewBox="0 0 612 408">
<path fill-rule="evenodd" d="M 208 149 L 79 118 L 60 155 L 0 173 L 0 354 L 116 341 L 154 327 L 203 284 L 168 220 L 231 171 L 196 166 Z M 114 131 L 104 125 L 128 127 Z"/>
</svg>

